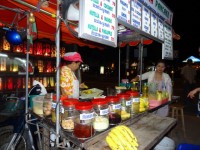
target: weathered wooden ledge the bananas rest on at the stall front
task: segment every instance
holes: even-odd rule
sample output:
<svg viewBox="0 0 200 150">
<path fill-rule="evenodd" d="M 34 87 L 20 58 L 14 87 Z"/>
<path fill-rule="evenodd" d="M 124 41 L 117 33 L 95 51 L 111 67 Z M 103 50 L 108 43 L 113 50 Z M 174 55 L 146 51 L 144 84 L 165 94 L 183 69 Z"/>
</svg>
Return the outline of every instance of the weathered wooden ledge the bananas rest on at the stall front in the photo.
<svg viewBox="0 0 200 150">
<path fill-rule="evenodd" d="M 176 124 L 176 119 L 147 114 L 133 124 L 128 125 L 136 135 L 139 143 L 138 150 L 149 150 L 157 144 Z M 87 150 L 109 150 L 105 141 L 107 133 L 98 137 L 98 142 L 87 147 Z M 102 140 L 101 140 L 102 139 Z M 86 142 L 87 143 L 87 142 Z M 84 147 L 85 147 L 84 146 Z"/>
</svg>

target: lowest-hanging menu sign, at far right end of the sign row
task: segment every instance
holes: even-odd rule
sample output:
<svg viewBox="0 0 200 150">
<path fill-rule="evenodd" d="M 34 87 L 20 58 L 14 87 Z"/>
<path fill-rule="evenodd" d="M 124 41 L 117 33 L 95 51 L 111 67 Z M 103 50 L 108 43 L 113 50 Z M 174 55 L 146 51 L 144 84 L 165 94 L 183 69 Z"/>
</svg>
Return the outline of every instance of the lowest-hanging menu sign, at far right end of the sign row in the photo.
<svg viewBox="0 0 200 150">
<path fill-rule="evenodd" d="M 164 43 L 162 45 L 162 58 L 173 59 L 173 47 L 172 47 L 172 27 L 164 25 Z"/>
</svg>

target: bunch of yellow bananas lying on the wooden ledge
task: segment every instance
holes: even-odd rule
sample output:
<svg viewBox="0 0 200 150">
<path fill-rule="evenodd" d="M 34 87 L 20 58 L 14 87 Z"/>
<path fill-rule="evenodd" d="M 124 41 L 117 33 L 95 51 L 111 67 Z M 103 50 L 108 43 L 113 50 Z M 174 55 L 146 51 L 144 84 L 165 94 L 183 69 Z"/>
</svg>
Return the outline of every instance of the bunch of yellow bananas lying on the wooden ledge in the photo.
<svg viewBox="0 0 200 150">
<path fill-rule="evenodd" d="M 125 125 L 111 129 L 106 136 L 106 142 L 112 150 L 137 150 L 139 146 L 137 138 Z"/>
</svg>

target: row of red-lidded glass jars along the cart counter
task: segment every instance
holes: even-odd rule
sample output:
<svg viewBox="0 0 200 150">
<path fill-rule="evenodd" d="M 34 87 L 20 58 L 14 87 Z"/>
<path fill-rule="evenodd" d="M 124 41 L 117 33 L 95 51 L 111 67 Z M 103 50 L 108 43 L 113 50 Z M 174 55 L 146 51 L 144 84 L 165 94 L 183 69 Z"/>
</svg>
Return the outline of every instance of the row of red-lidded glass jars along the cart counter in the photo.
<svg viewBox="0 0 200 150">
<path fill-rule="evenodd" d="M 89 138 L 95 132 L 106 130 L 119 124 L 139 112 L 139 93 L 129 91 L 117 96 L 80 102 L 78 99 L 62 97 L 60 99 L 60 123 L 64 130 L 73 132 L 80 139 Z M 56 97 L 45 97 L 43 116 L 51 116 L 56 122 Z"/>
</svg>

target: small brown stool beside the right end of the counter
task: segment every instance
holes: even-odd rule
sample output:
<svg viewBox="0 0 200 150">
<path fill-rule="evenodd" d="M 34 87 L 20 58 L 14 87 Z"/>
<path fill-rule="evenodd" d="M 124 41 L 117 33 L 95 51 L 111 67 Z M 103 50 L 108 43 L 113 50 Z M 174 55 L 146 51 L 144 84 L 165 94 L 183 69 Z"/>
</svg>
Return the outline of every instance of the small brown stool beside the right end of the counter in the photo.
<svg viewBox="0 0 200 150">
<path fill-rule="evenodd" d="M 174 104 L 170 105 L 170 108 L 172 110 L 172 118 L 177 118 L 178 119 L 178 116 L 179 115 L 181 116 L 183 133 L 184 133 L 184 136 L 186 136 L 186 134 L 185 134 L 184 113 L 183 113 L 184 106 L 182 104 L 179 104 L 179 103 L 174 103 Z M 180 112 L 180 114 L 179 114 L 179 112 Z"/>
</svg>

